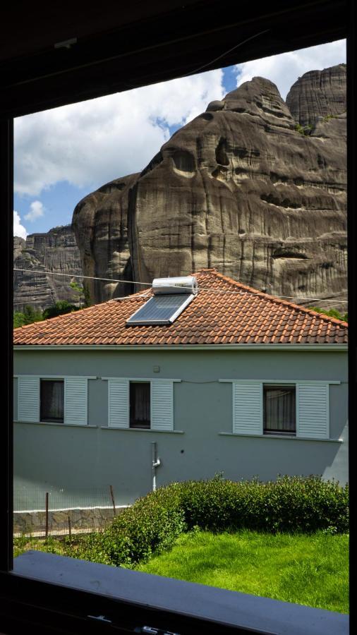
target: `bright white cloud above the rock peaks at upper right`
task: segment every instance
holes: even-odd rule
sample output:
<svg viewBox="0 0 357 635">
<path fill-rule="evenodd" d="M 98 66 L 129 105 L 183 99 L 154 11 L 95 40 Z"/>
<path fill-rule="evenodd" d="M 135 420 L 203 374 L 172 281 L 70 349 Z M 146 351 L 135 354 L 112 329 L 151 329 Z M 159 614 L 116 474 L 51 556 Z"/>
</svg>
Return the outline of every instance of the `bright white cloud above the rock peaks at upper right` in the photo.
<svg viewBox="0 0 357 635">
<path fill-rule="evenodd" d="M 285 99 L 291 86 L 308 71 L 320 71 L 322 68 L 346 62 L 346 40 L 320 44 L 280 55 L 237 64 L 237 86 L 250 81 L 253 77 L 270 79 L 279 88 Z"/>
</svg>

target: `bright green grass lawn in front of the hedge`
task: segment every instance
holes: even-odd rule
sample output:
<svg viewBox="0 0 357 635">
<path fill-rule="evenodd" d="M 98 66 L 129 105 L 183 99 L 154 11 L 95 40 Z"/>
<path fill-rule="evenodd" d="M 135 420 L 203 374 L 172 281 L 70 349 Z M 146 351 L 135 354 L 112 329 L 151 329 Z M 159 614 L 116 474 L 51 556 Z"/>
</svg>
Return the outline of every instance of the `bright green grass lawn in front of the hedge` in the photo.
<svg viewBox="0 0 357 635">
<path fill-rule="evenodd" d="M 347 535 L 193 531 L 137 570 L 348 613 L 348 550 Z"/>
</svg>

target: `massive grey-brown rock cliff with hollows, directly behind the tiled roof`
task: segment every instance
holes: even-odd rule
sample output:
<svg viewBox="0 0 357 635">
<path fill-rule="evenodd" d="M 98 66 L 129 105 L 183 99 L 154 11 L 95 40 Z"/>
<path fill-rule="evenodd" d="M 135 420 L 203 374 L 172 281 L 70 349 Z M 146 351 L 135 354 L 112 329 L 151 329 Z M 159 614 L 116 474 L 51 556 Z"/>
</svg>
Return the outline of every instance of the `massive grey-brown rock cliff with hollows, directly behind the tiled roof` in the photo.
<svg viewBox="0 0 357 635">
<path fill-rule="evenodd" d="M 340 83 L 329 70 L 315 73 Z M 291 89 L 295 102 L 304 78 Z M 305 304 L 346 298 L 346 116 L 337 110 L 309 115 L 304 134 L 263 78 L 212 102 L 140 174 L 78 203 L 73 230 L 83 271 L 152 282 L 216 267 Z M 91 296 L 100 302 L 131 291 L 93 282 Z"/>
</svg>

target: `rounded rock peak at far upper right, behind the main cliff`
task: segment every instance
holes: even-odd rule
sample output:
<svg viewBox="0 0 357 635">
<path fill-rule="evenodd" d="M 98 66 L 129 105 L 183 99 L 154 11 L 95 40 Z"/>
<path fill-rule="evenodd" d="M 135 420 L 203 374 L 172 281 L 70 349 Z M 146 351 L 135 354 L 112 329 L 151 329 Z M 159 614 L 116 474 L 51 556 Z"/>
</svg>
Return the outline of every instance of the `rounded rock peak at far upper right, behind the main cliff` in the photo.
<svg viewBox="0 0 357 635">
<path fill-rule="evenodd" d="M 346 64 L 305 73 L 286 95 L 286 105 L 301 126 L 313 126 L 318 116 L 345 112 L 346 102 Z"/>
</svg>

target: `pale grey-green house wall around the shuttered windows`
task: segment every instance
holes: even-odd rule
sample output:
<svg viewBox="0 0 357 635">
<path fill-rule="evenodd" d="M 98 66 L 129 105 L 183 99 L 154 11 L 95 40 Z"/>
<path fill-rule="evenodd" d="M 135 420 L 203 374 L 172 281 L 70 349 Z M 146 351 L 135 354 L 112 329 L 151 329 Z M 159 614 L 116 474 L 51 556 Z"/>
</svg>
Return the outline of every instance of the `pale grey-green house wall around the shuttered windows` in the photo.
<svg viewBox="0 0 357 635">
<path fill-rule="evenodd" d="M 159 373 L 153 366 L 159 365 Z M 114 488 L 130 504 L 152 486 L 152 442 L 162 466 L 157 485 L 172 480 L 322 474 L 347 480 L 347 354 L 296 351 L 16 351 L 17 375 L 95 375 L 179 379 L 174 383 L 174 433 L 107 428 L 107 382 L 88 382 L 88 426 L 15 423 L 16 491 L 26 509 L 61 489 L 61 507 L 83 492 Z M 335 441 L 222 435 L 232 430 L 231 384 L 219 379 L 336 380 L 330 385 L 330 437 Z M 15 382 L 15 413 L 17 390 Z M 16 416 L 15 416 L 16 418 Z M 337 441 L 342 438 L 343 442 Z M 30 494 L 30 492 L 37 492 Z M 25 500 L 25 497 L 27 499 Z M 103 500 L 102 504 L 110 504 Z M 43 507 L 42 507 L 43 508 Z"/>
</svg>

